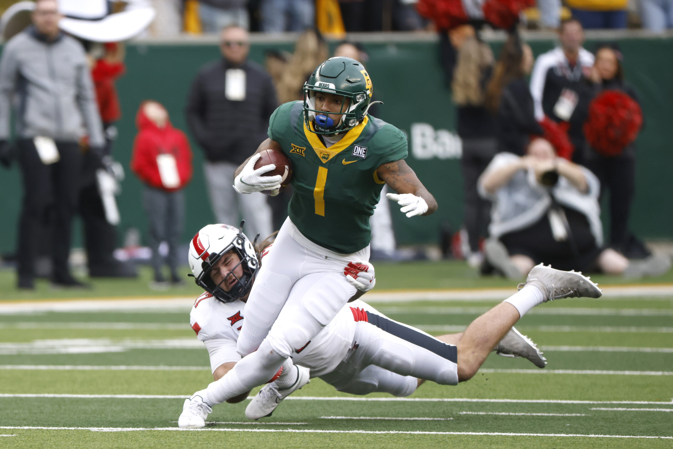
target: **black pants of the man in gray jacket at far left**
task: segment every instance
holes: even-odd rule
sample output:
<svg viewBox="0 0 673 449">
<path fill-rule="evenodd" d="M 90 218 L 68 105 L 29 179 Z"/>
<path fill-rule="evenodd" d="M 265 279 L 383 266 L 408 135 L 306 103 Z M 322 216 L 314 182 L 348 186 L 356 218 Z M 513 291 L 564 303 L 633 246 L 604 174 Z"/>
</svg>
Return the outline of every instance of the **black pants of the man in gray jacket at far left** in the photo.
<svg viewBox="0 0 673 449">
<path fill-rule="evenodd" d="M 32 139 L 22 139 L 17 144 L 24 188 L 16 245 L 19 285 L 32 287 L 40 222 L 48 222 L 52 234 L 52 280 L 71 284 L 73 278 L 68 270 L 68 257 L 80 187 L 82 156 L 79 145 L 56 142 L 61 159 L 44 165 Z"/>
</svg>

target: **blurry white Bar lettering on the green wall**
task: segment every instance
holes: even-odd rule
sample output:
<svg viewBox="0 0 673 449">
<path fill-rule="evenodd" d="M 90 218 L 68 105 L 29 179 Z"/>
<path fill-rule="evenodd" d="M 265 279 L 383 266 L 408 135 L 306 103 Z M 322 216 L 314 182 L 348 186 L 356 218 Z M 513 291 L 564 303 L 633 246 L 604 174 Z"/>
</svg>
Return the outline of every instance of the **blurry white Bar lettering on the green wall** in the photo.
<svg viewBox="0 0 673 449">
<path fill-rule="evenodd" d="M 411 154 L 416 159 L 460 159 L 462 140 L 449 130 L 435 130 L 427 123 L 411 125 Z"/>
</svg>

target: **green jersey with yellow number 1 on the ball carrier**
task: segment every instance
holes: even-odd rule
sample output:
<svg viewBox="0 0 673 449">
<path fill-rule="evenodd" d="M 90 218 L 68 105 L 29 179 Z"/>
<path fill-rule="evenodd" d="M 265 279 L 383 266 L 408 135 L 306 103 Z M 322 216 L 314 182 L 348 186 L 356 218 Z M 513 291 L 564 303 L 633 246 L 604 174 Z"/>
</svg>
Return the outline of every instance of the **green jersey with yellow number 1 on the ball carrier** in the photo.
<svg viewBox="0 0 673 449">
<path fill-rule="evenodd" d="M 306 129 L 302 101 L 291 101 L 271 116 L 269 138 L 292 163 L 288 214 L 297 229 L 337 253 L 355 253 L 369 245 L 369 217 L 384 185 L 376 169 L 406 159 L 404 133 L 367 115 L 326 147 L 318 134 Z"/>
</svg>

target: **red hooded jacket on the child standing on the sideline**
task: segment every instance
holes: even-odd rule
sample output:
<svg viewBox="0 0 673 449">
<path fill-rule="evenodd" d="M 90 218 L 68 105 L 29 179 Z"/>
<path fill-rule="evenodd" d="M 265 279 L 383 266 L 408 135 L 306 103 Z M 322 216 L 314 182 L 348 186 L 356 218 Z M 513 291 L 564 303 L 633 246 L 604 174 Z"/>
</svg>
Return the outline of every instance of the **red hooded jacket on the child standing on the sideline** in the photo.
<svg viewBox="0 0 673 449">
<path fill-rule="evenodd" d="M 192 179 L 192 151 L 184 132 L 173 128 L 170 122 L 164 128 L 156 126 L 143 112 L 141 104 L 135 116 L 135 124 L 139 129 L 133 142 L 131 170 L 141 181 L 149 186 L 173 192 L 180 190 Z M 180 186 L 168 189 L 164 187 L 157 166 L 157 155 L 171 153 L 176 160 Z"/>
</svg>

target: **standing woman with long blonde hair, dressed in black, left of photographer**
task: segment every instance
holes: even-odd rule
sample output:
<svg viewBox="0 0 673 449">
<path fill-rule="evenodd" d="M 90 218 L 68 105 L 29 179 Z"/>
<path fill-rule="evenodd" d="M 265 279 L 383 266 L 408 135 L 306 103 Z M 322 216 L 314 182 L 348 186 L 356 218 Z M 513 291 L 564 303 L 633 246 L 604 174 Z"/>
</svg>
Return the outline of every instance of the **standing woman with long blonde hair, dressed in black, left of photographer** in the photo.
<svg viewBox="0 0 673 449">
<path fill-rule="evenodd" d="M 441 42 L 445 47 L 444 57 L 456 60 L 453 71 L 448 66 L 447 76 L 452 76 L 452 95 L 458 106 L 456 130 L 462 140 L 460 169 L 465 195 L 464 223 L 470 243 L 466 258 L 470 266 L 476 267 L 483 258 L 479 239 L 486 235 L 490 207 L 489 202 L 479 197 L 476 180 L 496 151 L 495 120 L 484 105 L 486 85 L 493 73 L 493 52 L 469 25 L 454 28 L 448 40 L 443 38 Z"/>
</svg>

